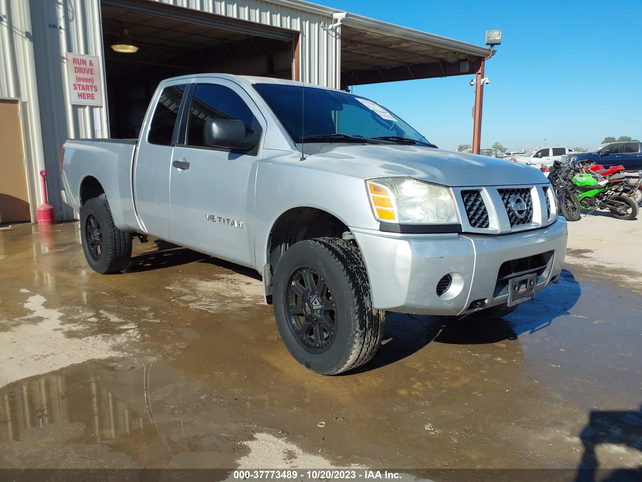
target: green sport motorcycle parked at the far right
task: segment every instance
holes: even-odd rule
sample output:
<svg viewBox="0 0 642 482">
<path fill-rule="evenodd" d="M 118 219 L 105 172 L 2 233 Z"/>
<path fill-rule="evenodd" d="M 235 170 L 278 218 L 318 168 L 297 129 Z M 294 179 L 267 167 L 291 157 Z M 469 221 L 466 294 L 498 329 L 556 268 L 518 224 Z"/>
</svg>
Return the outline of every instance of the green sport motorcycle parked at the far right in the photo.
<svg viewBox="0 0 642 482">
<path fill-rule="evenodd" d="M 571 190 L 577 195 L 580 207 L 586 210 L 606 209 L 618 219 L 635 219 L 638 215 L 638 203 L 622 192 L 620 184 L 624 176 L 618 179 L 597 181 L 591 174 L 575 174 L 569 182 Z"/>
</svg>

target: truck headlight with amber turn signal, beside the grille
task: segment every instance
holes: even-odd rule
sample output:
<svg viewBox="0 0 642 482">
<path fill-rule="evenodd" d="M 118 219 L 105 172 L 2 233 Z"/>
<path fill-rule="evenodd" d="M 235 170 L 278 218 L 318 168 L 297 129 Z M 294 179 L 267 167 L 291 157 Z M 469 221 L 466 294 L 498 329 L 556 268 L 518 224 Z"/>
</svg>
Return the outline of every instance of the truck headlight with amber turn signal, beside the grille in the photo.
<svg viewBox="0 0 642 482">
<path fill-rule="evenodd" d="M 459 215 L 449 188 L 412 177 L 365 181 L 374 217 L 395 224 L 458 224 Z"/>
</svg>

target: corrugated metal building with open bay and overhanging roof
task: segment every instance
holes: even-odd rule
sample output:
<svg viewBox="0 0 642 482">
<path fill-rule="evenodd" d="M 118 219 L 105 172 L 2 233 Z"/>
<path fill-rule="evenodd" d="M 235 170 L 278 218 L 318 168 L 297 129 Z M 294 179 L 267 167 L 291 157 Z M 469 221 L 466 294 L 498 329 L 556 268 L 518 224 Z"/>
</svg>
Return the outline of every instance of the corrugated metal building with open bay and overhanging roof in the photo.
<svg viewBox="0 0 642 482">
<path fill-rule="evenodd" d="M 339 13 L 300 0 L 0 0 L 0 108 L 17 107 L 24 156 L 11 168 L 24 172 L 4 183 L 26 179 L 33 221 L 46 170 L 56 219 L 73 219 L 60 197 L 62 143 L 137 136 L 155 85 L 169 76 L 226 72 L 345 88 L 474 73 L 490 53 L 352 13 L 339 21 Z M 110 49 L 123 36 L 139 51 Z M 69 53 L 98 58 L 100 105 L 72 103 Z"/>
</svg>

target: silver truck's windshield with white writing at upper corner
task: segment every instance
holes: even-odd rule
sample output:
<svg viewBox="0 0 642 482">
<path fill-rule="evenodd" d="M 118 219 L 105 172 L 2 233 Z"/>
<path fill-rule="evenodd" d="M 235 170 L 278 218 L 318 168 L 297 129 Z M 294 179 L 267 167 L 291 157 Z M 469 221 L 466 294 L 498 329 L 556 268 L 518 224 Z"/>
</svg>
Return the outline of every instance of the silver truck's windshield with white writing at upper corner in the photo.
<svg viewBox="0 0 642 482">
<path fill-rule="evenodd" d="M 295 143 L 301 139 L 352 143 L 377 139 L 434 147 L 399 116 L 363 97 L 300 85 L 254 84 L 254 89 Z"/>
</svg>

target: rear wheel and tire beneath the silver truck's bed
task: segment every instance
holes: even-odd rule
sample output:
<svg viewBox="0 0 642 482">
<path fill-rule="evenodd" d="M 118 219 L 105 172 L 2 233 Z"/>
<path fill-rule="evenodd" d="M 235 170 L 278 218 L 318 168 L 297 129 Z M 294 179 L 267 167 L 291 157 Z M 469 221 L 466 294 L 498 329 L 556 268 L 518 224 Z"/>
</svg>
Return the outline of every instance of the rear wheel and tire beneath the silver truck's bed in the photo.
<svg viewBox="0 0 642 482">
<path fill-rule="evenodd" d="M 123 271 L 132 256 L 132 235 L 114 225 L 106 197 L 89 199 L 80 208 L 80 236 L 85 258 L 100 274 Z"/>
</svg>

